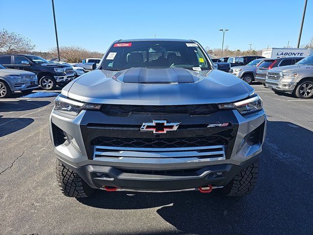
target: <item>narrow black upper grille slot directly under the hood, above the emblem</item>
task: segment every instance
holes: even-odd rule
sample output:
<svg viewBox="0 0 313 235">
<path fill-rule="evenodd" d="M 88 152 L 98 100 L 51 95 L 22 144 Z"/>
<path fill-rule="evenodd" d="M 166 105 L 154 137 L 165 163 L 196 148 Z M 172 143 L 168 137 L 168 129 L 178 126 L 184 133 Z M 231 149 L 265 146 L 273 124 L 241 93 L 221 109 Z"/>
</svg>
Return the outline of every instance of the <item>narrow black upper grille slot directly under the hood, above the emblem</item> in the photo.
<svg viewBox="0 0 313 235">
<path fill-rule="evenodd" d="M 145 114 L 189 114 L 209 115 L 217 111 L 215 104 L 194 104 L 194 105 L 125 105 L 106 104 L 102 112 L 109 116 L 130 115 L 132 113 Z"/>
</svg>

